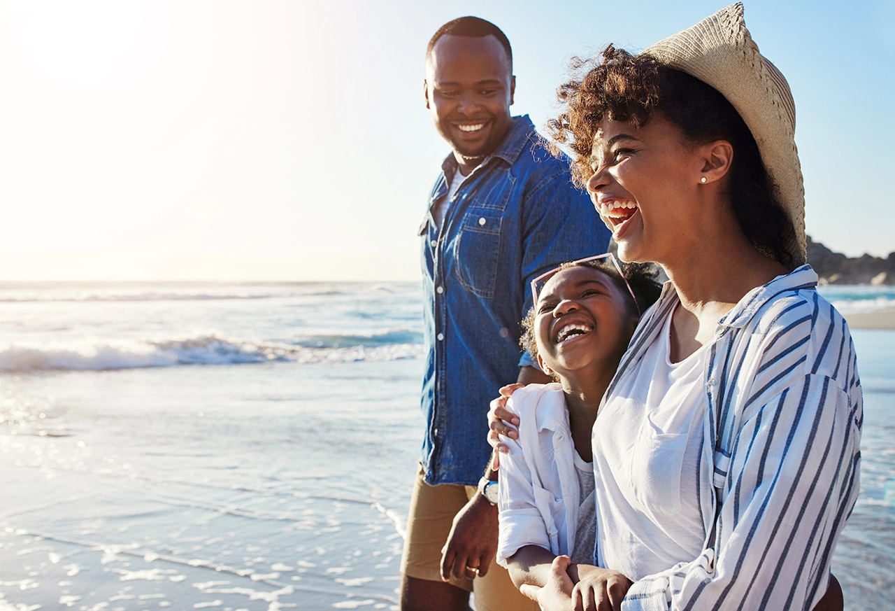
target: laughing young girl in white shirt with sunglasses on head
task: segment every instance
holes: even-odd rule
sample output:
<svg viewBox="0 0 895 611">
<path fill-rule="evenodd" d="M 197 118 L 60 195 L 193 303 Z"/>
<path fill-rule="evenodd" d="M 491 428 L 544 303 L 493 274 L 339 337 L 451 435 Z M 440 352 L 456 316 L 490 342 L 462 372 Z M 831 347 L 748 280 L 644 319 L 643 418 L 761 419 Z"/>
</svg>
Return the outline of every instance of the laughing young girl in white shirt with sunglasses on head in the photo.
<svg viewBox="0 0 895 611">
<path fill-rule="evenodd" d="M 500 460 L 498 562 L 541 604 L 548 602 L 555 561 L 578 585 L 554 592 L 595 608 L 599 588 L 586 579 L 596 536 L 591 429 L 603 393 L 627 349 L 640 314 L 659 297 L 652 267 L 611 254 L 566 263 L 533 282 L 535 306 L 522 343 L 558 383 L 517 390 L 507 409 L 519 417 L 518 439 L 505 438 Z M 610 596 L 627 580 L 618 573 Z"/>
</svg>

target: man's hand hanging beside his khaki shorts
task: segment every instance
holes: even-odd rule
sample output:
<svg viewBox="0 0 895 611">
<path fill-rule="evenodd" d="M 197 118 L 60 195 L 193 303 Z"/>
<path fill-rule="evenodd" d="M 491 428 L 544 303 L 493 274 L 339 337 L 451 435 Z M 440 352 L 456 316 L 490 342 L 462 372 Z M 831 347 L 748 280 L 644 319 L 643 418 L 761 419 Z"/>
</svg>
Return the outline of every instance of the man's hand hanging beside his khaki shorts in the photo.
<svg viewBox="0 0 895 611">
<path fill-rule="evenodd" d="M 498 550 L 498 508 L 476 493 L 454 516 L 454 526 L 441 550 L 441 579 L 473 579 L 488 572 Z"/>
</svg>

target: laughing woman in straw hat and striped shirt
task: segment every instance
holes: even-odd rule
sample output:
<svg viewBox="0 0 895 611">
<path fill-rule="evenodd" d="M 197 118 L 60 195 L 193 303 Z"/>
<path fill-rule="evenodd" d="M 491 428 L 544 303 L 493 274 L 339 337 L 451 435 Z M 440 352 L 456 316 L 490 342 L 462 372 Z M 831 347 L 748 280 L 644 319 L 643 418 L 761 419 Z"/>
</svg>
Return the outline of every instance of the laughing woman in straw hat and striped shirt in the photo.
<svg viewBox="0 0 895 611">
<path fill-rule="evenodd" d="M 812 608 L 863 412 L 848 327 L 804 264 L 786 80 L 734 4 L 640 56 L 607 48 L 560 100 L 552 135 L 619 257 L 670 279 L 593 427 L 598 562 L 632 581 L 623 609 Z M 569 589 L 559 569 L 545 589 Z"/>
</svg>

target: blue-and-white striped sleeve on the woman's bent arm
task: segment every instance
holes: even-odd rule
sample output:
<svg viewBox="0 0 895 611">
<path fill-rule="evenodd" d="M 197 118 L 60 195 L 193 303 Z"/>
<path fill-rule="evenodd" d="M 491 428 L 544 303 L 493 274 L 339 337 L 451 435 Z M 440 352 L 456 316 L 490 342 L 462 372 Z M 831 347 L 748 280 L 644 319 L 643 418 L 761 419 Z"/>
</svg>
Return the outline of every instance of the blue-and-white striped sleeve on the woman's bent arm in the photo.
<svg viewBox="0 0 895 611">
<path fill-rule="evenodd" d="M 717 364 L 729 372 L 717 404 L 733 409 L 720 418 L 714 544 L 636 581 L 625 611 L 808 610 L 826 591 L 859 489 L 863 415 L 851 337 L 816 297 L 782 299 L 756 318 Z"/>
</svg>

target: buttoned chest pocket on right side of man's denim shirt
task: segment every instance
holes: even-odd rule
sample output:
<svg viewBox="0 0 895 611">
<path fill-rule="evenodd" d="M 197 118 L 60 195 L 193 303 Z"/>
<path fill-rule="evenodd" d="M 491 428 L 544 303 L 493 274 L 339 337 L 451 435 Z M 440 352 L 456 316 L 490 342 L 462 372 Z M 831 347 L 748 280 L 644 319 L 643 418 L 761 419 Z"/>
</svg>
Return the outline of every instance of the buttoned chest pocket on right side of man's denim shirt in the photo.
<svg viewBox="0 0 895 611">
<path fill-rule="evenodd" d="M 463 287 L 477 295 L 494 297 L 500 254 L 501 211 L 476 208 L 461 219 L 455 248 L 456 275 Z"/>
</svg>

